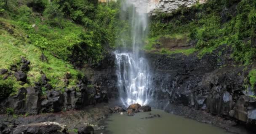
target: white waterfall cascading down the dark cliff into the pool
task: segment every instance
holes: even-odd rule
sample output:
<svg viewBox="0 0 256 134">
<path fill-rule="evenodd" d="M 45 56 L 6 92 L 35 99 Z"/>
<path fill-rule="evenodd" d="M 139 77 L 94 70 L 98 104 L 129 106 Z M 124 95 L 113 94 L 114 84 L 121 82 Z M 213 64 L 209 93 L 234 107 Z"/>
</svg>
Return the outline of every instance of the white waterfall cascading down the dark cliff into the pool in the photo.
<svg viewBox="0 0 256 134">
<path fill-rule="evenodd" d="M 147 59 L 142 57 L 143 54 L 139 54 L 143 39 L 147 35 L 148 15 L 144 8 L 147 7 L 145 1 L 148 0 L 125 0 L 122 6 L 123 17 L 132 7 L 132 12 L 128 12 L 132 43 L 123 44 L 125 47 L 132 46 L 132 52 L 115 51 L 120 99 L 126 107 L 133 103 L 146 105 L 152 96 L 149 64 Z"/>
</svg>

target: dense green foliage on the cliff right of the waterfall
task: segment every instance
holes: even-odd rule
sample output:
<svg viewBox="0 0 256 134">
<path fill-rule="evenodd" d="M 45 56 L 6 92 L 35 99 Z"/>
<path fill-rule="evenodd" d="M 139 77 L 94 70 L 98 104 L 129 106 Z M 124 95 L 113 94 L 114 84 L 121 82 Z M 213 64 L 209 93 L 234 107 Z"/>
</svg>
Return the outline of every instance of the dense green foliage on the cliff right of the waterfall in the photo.
<svg viewBox="0 0 256 134">
<path fill-rule="evenodd" d="M 237 9 L 230 8 L 233 5 L 237 5 Z M 250 42 L 252 37 L 256 37 L 256 2 L 208 0 L 202 5 L 181 7 L 171 14 L 157 14 L 152 18 L 150 29 L 151 38 L 165 34 L 189 33 L 189 38 L 197 41 L 195 47 L 200 51 L 199 57 L 211 53 L 222 44 L 231 45 L 232 57 L 237 62 L 251 64 L 256 53 Z"/>
</svg>

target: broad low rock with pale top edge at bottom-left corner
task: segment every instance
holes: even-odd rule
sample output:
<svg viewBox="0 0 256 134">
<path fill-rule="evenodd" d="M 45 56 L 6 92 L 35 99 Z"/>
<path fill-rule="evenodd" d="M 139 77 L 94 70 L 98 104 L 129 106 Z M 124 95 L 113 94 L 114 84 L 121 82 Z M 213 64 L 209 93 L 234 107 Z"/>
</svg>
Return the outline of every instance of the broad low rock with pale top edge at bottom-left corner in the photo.
<svg viewBox="0 0 256 134">
<path fill-rule="evenodd" d="M 57 122 L 43 122 L 17 126 L 13 134 L 68 134 L 68 129 Z"/>
</svg>

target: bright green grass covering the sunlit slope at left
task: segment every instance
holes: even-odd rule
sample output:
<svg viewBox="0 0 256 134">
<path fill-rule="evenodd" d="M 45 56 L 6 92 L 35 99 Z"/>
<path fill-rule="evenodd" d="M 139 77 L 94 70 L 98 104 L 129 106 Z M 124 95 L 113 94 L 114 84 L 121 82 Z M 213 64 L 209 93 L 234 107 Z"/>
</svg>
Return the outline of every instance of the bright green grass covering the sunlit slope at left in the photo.
<svg viewBox="0 0 256 134">
<path fill-rule="evenodd" d="M 54 57 L 51 52 L 42 51 L 37 48 L 33 43 L 28 44 L 29 39 L 25 37 L 26 32 L 21 28 L 21 26 L 17 25 L 17 23 L 5 20 L 3 18 L 0 21 L 6 23 L 7 25 L 11 23 L 15 25 L 14 34 L 11 35 L 5 29 L 0 28 L 0 68 L 10 68 L 11 64 L 18 63 L 22 57 L 26 57 L 27 60 L 30 60 L 31 64 L 29 65 L 30 70 L 27 72 L 28 81 L 25 87 L 33 85 L 33 82 L 38 81 L 41 77 L 40 72 L 43 71 L 45 75 L 50 80 L 49 83 L 53 86 L 53 88 L 63 88 L 64 76 L 67 72 L 70 72 L 72 78 L 69 80 L 69 87 L 75 86 L 77 82 L 77 76 L 80 73 L 78 70 L 75 70 L 74 67 L 61 59 Z M 59 33 L 61 34 L 61 32 Z M 21 35 L 21 36 L 20 36 Z M 40 60 L 41 54 L 44 54 L 48 61 L 43 62 Z M 15 79 L 13 79 L 14 81 Z M 15 89 L 20 88 L 18 82 L 15 82 Z"/>
</svg>

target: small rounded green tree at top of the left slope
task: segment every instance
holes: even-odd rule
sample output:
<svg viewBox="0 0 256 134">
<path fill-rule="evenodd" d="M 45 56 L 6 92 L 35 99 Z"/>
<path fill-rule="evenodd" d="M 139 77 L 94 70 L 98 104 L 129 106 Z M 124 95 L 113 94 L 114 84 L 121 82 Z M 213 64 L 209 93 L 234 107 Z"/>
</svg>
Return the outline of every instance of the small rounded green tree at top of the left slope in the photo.
<svg viewBox="0 0 256 134">
<path fill-rule="evenodd" d="M 44 15 L 51 23 L 57 23 L 62 29 L 61 22 L 63 19 L 64 13 L 61 12 L 60 5 L 55 2 L 51 2 L 46 6 Z"/>
</svg>

